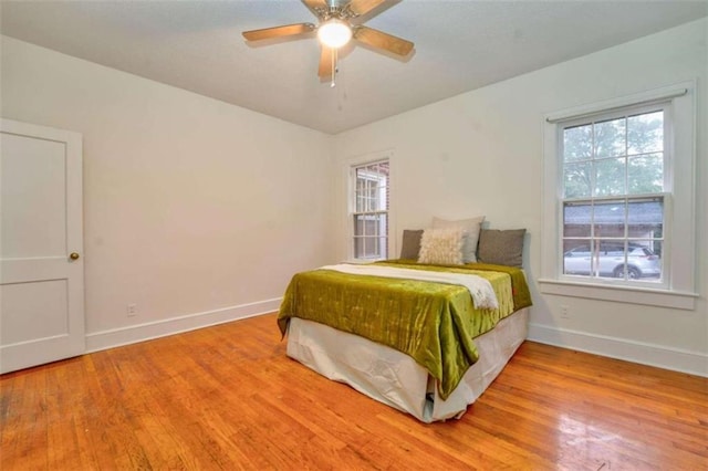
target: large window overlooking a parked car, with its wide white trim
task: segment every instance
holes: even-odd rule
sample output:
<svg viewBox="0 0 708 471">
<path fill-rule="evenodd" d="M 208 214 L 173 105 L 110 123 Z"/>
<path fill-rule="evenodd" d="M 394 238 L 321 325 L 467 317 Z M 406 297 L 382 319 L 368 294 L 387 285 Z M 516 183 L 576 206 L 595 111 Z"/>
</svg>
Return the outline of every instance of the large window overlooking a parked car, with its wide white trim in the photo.
<svg viewBox="0 0 708 471">
<path fill-rule="evenodd" d="M 546 116 L 541 292 L 694 308 L 694 90 Z"/>
</svg>

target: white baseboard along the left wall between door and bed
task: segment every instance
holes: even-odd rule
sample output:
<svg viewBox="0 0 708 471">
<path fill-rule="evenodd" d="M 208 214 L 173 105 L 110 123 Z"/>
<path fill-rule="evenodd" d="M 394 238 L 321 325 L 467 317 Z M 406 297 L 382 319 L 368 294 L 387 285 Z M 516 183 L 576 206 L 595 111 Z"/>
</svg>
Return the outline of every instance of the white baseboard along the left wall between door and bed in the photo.
<svg viewBox="0 0 708 471">
<path fill-rule="evenodd" d="M 278 311 L 282 297 L 86 334 L 86 353 L 166 337 Z M 273 325 L 273 328 L 277 328 Z"/>
</svg>

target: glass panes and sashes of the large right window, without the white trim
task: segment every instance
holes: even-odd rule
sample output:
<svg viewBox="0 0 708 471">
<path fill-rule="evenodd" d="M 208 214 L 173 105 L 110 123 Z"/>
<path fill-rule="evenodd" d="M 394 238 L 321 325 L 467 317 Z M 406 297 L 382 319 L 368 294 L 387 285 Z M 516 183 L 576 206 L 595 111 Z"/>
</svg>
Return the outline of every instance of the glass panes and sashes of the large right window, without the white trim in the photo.
<svg viewBox="0 0 708 471">
<path fill-rule="evenodd" d="M 560 123 L 563 274 L 662 284 L 666 104 Z"/>
</svg>

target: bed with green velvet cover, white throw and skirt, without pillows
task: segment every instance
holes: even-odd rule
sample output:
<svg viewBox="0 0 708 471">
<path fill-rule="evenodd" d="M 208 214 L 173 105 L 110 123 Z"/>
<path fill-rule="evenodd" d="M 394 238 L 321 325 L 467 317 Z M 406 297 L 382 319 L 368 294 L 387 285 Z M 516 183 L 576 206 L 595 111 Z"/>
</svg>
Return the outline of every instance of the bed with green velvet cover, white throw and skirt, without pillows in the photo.
<svg viewBox="0 0 708 471">
<path fill-rule="evenodd" d="M 399 259 L 295 274 L 278 323 L 289 357 L 433 422 L 461 417 L 499 375 L 530 305 L 519 268 Z"/>
</svg>

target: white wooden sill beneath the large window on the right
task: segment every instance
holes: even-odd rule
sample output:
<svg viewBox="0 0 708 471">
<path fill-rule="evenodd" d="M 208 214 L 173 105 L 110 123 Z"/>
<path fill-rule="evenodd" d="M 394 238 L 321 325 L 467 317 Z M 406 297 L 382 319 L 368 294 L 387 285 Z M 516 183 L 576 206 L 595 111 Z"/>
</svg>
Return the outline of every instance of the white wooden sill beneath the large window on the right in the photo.
<svg viewBox="0 0 708 471">
<path fill-rule="evenodd" d="M 608 286 L 576 281 L 540 279 L 541 293 L 560 296 L 585 297 L 591 300 L 613 301 L 616 303 L 642 304 L 647 306 L 673 307 L 693 311 L 696 308 L 698 294 L 656 290 L 637 286 Z"/>
</svg>

